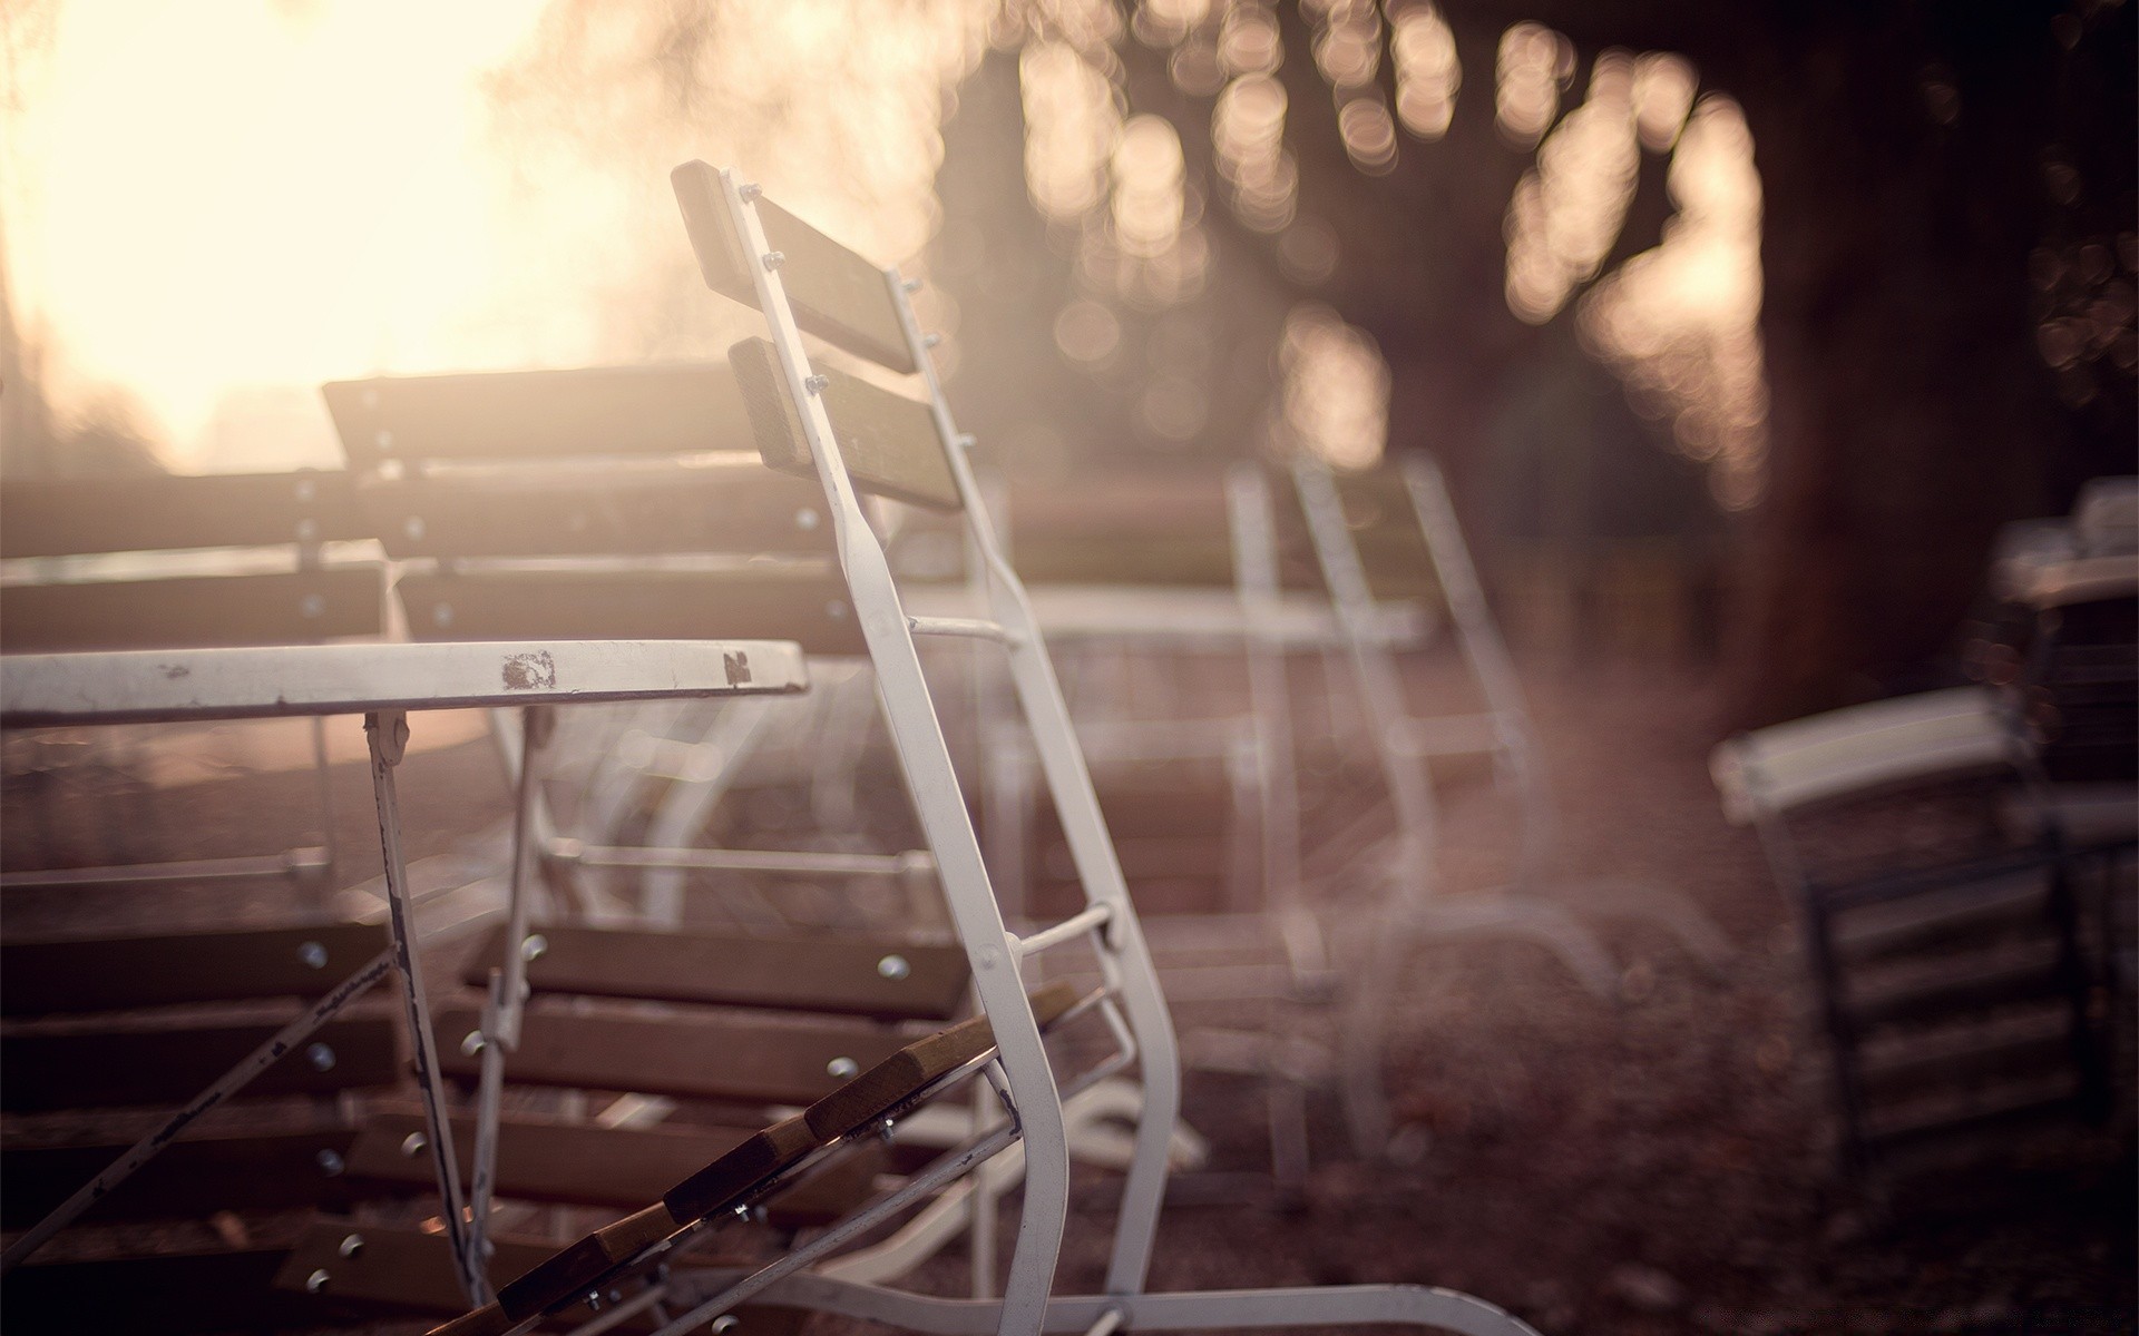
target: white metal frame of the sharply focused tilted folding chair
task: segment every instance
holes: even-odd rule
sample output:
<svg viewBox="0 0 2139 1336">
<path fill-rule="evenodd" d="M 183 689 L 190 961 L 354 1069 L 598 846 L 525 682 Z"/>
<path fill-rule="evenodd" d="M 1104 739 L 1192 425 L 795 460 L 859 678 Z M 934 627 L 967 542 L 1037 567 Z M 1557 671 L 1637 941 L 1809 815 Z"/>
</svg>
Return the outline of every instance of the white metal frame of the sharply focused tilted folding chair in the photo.
<svg viewBox="0 0 2139 1336">
<path fill-rule="evenodd" d="M 806 445 L 809 464 L 824 485 L 838 562 L 847 575 L 856 618 L 877 669 L 886 723 L 928 844 L 935 851 L 954 928 L 973 966 L 980 1007 L 995 1028 L 995 1065 L 1001 1071 L 1001 1094 L 1012 1114 L 1012 1122 L 995 1135 L 1003 1135 L 1007 1144 L 1007 1135 L 1016 1133 L 1025 1148 L 1025 1201 L 1001 1300 L 975 1300 L 971 1315 L 954 1325 L 945 1325 L 941 1312 L 915 1310 L 907 1310 L 898 1321 L 913 1319 L 911 1325 L 922 1330 L 986 1330 L 992 1325 L 1003 1334 L 1168 1325 L 1247 1327 L 1301 1321 L 1416 1321 L 1480 1334 L 1525 1332 L 1523 1323 L 1489 1304 L 1418 1287 L 1273 1289 L 1251 1295 L 1144 1293 L 1166 1189 L 1168 1144 L 1181 1109 L 1181 1058 L 1172 1017 L 1166 1011 L 1151 949 L 1129 904 L 1121 866 L 1108 840 L 1031 603 L 986 519 L 980 487 L 965 457 L 967 438 L 960 436 L 943 400 L 928 357 L 928 340 L 907 301 L 909 289 L 896 269 L 875 269 L 821 233 L 764 203 L 761 190 L 738 180 L 734 171 L 689 162 L 678 167 L 672 180 L 708 286 L 757 306 L 770 325 L 779 389 L 785 391 L 783 413 L 794 415 L 791 423 Z M 768 231 L 781 233 L 779 248 L 768 239 Z M 826 410 L 824 398 L 830 380 L 815 370 L 802 342 L 800 319 L 826 333 L 824 308 L 809 304 L 798 312 L 789 301 L 785 271 L 794 259 L 802 261 L 796 269 L 804 274 L 804 265 L 824 263 L 824 271 L 802 278 L 802 282 L 813 284 L 813 293 L 843 278 L 834 271 L 841 267 L 856 274 L 851 284 L 856 291 L 873 286 L 871 276 L 883 284 L 883 297 L 888 297 L 903 336 L 905 359 L 922 376 L 928 417 L 950 470 L 952 496 L 937 500 L 937 507 L 958 511 L 967 541 L 980 556 L 988 590 L 988 618 L 926 618 L 909 616 L 903 609 L 883 545 L 860 504 L 860 485 L 851 472 L 853 464 L 845 455 L 847 447 Z M 883 297 L 868 299 L 881 301 Z M 836 321 L 832 325 L 830 333 L 841 333 Z M 834 338 L 834 342 L 838 340 Z M 1082 881 L 1087 898 L 1082 913 L 1022 938 L 1005 928 L 922 673 L 915 650 L 918 635 L 950 635 L 1003 648 L 1018 703 L 1033 733 L 1042 776 L 1052 793 L 1072 861 Z M 1082 1300 L 1050 1298 L 1055 1261 L 1067 1221 L 1070 1150 L 1061 1088 L 1018 973 L 1018 964 L 1027 956 L 1070 941 L 1084 941 L 1095 951 L 1106 983 L 1099 1011 L 1121 1045 L 1119 1058 L 1134 1060 L 1144 1084 L 1144 1107 L 1136 1122 L 1104 1293 Z M 948 1159 L 960 1161 L 963 1156 Z M 948 1167 L 952 1174 L 963 1169 L 965 1163 Z M 864 1212 L 856 1218 L 853 1229 L 862 1229 L 875 1218 L 881 1214 Z M 678 1317 L 663 1332 L 680 1334 L 721 1312 L 723 1304 L 776 1287 L 815 1255 L 845 1242 L 845 1231 L 834 1229 L 817 1242 L 821 1248 L 813 1246 L 789 1255 L 768 1272 L 759 1272 Z M 796 1285 L 811 1283 L 798 1280 Z M 826 1280 L 813 1285 L 817 1287 L 813 1293 L 821 1293 L 826 1300 L 838 1291 L 881 1295 L 871 1302 L 883 1304 L 913 1302 L 909 1295 L 877 1287 L 849 1291 Z"/>
</svg>

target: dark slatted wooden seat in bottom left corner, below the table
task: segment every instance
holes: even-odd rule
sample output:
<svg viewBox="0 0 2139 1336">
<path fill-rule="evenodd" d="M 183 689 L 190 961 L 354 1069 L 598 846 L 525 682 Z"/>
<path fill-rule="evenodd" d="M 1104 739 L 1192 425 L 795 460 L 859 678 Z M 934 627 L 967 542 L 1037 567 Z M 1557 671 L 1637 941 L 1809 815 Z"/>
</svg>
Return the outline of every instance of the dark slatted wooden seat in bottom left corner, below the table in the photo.
<svg viewBox="0 0 2139 1336">
<path fill-rule="evenodd" d="M 389 1011 L 317 1017 L 387 962 L 385 928 L 364 923 L 0 947 L 9 1330 L 122 1312 L 210 1330 L 246 1308 L 231 1287 L 280 1263 L 293 1212 L 366 1195 L 347 1174 L 349 1097 L 400 1084 L 406 1060 Z M 201 1229 L 212 1218 L 222 1246 Z M 139 1225 L 156 1221 L 190 1233 L 184 1255 L 141 1253 Z M 15 1265 L 51 1238 L 75 1259 Z M 188 1306 L 210 1291 L 225 1293 Z"/>
</svg>

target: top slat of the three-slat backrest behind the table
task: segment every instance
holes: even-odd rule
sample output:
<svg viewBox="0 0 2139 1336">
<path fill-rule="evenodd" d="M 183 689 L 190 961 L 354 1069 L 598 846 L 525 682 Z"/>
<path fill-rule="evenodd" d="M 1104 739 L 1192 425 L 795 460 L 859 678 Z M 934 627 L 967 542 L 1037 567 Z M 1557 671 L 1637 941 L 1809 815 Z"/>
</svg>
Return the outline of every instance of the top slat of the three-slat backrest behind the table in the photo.
<svg viewBox="0 0 2139 1336">
<path fill-rule="evenodd" d="M 747 451 L 719 366 L 381 376 L 321 387 L 355 468 L 387 460 L 560 460 Z"/>
</svg>

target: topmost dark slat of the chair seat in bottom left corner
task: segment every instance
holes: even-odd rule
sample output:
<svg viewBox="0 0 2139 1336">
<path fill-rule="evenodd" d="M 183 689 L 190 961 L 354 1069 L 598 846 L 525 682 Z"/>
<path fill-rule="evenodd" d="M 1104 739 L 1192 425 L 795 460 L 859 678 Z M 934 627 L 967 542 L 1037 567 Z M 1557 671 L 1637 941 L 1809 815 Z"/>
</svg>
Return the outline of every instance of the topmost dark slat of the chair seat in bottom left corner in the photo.
<svg viewBox="0 0 2139 1336">
<path fill-rule="evenodd" d="M 0 943 L 0 1013 L 312 998 L 385 949 L 379 923 Z"/>
</svg>

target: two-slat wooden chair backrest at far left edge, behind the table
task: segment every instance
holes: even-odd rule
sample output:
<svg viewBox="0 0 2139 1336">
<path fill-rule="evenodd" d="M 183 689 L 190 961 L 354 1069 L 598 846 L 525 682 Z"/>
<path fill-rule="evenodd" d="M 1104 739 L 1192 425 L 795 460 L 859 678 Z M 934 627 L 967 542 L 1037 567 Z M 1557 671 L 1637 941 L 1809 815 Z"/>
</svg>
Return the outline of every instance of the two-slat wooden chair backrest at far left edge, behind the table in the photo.
<svg viewBox="0 0 2139 1336">
<path fill-rule="evenodd" d="M 274 646 L 381 631 L 383 571 L 340 472 L 0 483 L 4 652 Z M 28 560 L 39 558 L 39 560 Z"/>
</svg>

